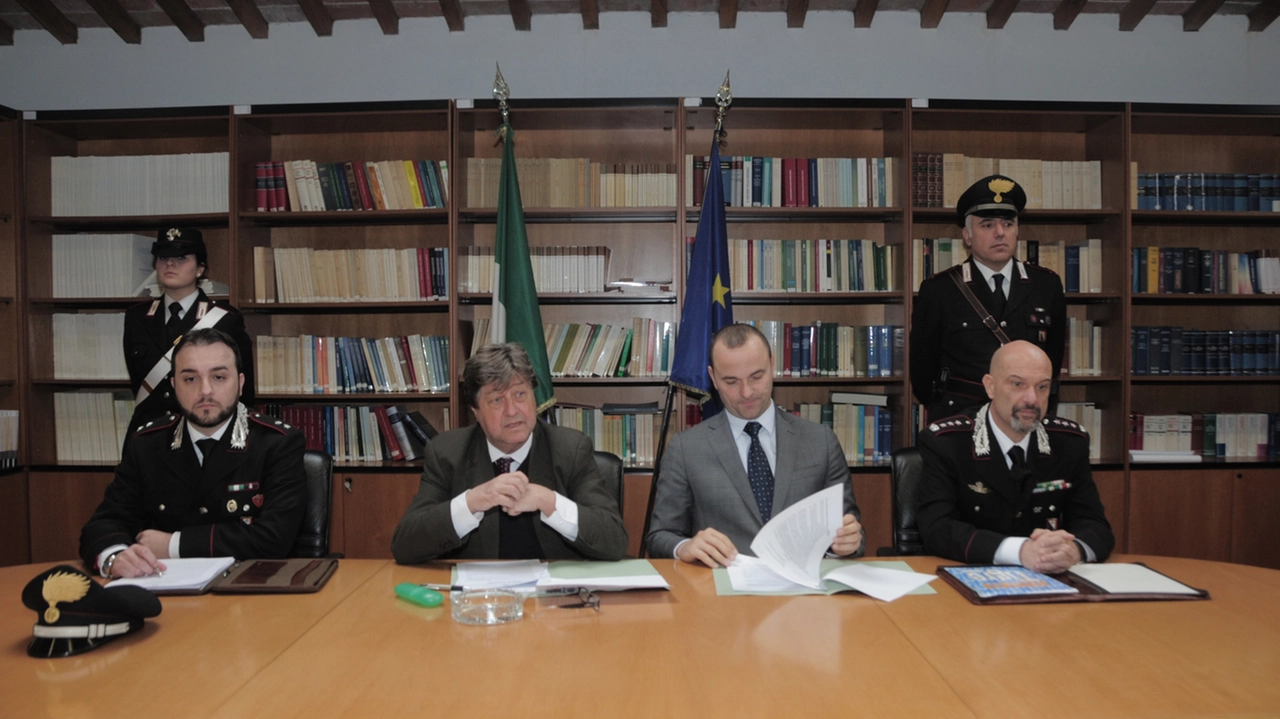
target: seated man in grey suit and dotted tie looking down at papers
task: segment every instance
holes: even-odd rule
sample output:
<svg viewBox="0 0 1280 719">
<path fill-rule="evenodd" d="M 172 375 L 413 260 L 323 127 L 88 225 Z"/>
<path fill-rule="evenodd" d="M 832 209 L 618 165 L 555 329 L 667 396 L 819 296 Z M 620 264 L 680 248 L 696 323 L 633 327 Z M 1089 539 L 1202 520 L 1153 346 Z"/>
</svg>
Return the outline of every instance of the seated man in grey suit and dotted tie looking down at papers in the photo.
<svg viewBox="0 0 1280 719">
<path fill-rule="evenodd" d="M 712 384 L 724 412 L 680 432 L 662 459 L 649 536 L 652 557 L 728 565 L 773 514 L 832 485 L 845 522 L 831 554 L 863 553 L 864 532 L 845 453 L 831 429 L 773 404 L 773 352 L 750 325 L 712 338 Z"/>
</svg>

